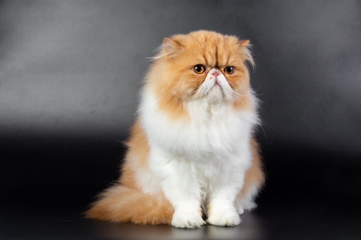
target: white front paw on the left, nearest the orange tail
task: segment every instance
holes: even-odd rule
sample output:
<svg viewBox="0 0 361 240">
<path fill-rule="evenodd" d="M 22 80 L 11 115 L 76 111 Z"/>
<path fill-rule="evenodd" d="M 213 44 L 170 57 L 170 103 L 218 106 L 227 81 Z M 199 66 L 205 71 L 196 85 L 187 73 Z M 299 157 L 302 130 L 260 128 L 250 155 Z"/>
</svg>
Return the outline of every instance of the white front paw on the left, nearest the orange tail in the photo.
<svg viewBox="0 0 361 240">
<path fill-rule="evenodd" d="M 172 225 L 179 228 L 195 228 L 207 224 L 198 212 L 175 211 Z"/>
</svg>

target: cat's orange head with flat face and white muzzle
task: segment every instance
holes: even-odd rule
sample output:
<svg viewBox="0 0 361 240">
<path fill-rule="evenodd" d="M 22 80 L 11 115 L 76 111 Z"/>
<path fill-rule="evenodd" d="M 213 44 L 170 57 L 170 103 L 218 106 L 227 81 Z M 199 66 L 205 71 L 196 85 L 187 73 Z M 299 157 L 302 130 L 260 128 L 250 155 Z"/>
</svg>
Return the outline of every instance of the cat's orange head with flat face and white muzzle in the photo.
<svg viewBox="0 0 361 240">
<path fill-rule="evenodd" d="M 211 31 L 165 38 L 147 75 L 160 107 L 180 108 L 205 100 L 234 107 L 249 101 L 249 69 L 254 65 L 248 40 Z"/>
</svg>

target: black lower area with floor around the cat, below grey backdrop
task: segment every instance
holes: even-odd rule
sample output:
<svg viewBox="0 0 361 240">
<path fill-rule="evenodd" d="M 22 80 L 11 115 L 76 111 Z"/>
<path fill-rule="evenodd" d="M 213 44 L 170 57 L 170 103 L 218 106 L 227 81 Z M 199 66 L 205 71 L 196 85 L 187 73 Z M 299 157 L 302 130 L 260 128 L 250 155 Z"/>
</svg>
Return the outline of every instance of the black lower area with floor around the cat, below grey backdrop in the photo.
<svg viewBox="0 0 361 240">
<path fill-rule="evenodd" d="M 177 229 L 83 218 L 93 196 L 117 178 L 119 142 L 8 139 L 0 150 L 0 239 L 361 239 L 357 158 L 262 148 L 268 183 L 256 210 L 236 227 Z"/>
</svg>

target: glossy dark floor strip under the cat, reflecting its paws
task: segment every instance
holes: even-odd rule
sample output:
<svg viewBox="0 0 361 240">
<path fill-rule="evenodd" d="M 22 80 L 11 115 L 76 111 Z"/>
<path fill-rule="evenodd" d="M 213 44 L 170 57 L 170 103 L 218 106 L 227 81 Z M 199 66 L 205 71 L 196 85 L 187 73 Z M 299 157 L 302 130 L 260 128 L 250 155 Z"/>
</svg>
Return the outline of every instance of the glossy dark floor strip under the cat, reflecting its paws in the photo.
<svg viewBox="0 0 361 240">
<path fill-rule="evenodd" d="M 197 229 L 138 226 L 84 220 L 78 210 L 59 208 L 13 209 L 1 214 L 2 239 L 357 239 L 360 212 L 335 208 L 274 203 L 242 216 L 235 227 L 206 225 Z M 21 211 L 20 211 L 21 210 Z"/>
</svg>

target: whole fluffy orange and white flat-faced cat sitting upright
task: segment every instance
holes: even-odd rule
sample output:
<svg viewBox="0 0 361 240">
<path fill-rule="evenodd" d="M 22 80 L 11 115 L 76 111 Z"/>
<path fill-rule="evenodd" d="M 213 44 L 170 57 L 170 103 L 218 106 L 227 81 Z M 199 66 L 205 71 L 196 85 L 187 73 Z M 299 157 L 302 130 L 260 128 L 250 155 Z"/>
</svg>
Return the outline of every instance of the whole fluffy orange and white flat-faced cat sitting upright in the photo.
<svg viewBox="0 0 361 240">
<path fill-rule="evenodd" d="M 121 177 L 86 216 L 179 228 L 238 225 L 265 182 L 249 40 L 204 30 L 174 35 L 152 60 Z"/>
</svg>

